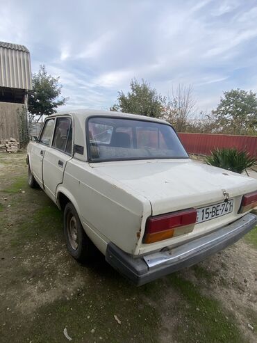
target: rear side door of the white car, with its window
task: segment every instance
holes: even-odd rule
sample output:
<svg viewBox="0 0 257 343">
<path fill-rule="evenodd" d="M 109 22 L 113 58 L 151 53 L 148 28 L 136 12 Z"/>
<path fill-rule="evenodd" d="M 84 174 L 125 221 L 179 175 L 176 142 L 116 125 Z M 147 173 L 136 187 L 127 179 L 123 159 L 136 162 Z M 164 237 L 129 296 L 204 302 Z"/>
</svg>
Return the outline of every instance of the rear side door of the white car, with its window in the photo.
<svg viewBox="0 0 257 343">
<path fill-rule="evenodd" d="M 56 201 L 56 187 L 63 182 L 66 163 L 72 158 L 72 118 L 56 118 L 51 147 L 44 152 L 43 180 L 47 195 Z"/>
</svg>

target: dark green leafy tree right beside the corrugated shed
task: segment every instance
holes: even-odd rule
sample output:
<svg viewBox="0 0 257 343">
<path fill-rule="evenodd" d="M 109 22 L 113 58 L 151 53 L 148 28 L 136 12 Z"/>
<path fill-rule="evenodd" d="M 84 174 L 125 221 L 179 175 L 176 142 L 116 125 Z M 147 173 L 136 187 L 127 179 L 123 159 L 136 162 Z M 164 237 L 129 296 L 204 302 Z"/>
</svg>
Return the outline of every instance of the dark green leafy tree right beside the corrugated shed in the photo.
<svg viewBox="0 0 257 343">
<path fill-rule="evenodd" d="M 60 77 L 52 77 L 47 74 L 46 67 L 40 65 L 38 73 L 33 74 L 33 90 L 28 95 L 29 122 L 43 115 L 50 115 L 56 112 L 58 106 L 66 104 L 67 97 L 60 97 L 62 87 L 59 84 Z"/>
</svg>

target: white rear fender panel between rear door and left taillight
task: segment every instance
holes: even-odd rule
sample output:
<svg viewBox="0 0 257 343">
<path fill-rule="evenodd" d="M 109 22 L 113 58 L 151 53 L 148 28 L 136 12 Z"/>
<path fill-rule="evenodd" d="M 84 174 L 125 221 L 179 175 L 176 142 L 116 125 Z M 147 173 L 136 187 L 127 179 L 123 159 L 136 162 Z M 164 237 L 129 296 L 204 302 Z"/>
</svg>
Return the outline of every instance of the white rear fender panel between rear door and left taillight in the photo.
<svg viewBox="0 0 257 343">
<path fill-rule="evenodd" d="M 76 194 L 81 223 L 89 236 L 91 228 L 106 246 L 113 241 L 127 253 L 135 253 L 142 227 L 151 215 L 146 198 L 120 187 L 111 177 L 95 175 L 94 168 L 74 159 L 67 162 L 63 187 Z"/>
</svg>

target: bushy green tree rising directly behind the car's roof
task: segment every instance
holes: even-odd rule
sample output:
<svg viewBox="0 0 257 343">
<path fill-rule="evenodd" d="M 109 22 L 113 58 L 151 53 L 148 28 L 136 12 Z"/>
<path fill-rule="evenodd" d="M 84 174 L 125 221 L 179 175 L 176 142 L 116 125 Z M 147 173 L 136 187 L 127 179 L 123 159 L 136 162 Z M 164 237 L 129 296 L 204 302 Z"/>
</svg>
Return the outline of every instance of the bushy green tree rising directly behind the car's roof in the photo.
<svg viewBox="0 0 257 343">
<path fill-rule="evenodd" d="M 159 95 L 156 89 L 151 88 L 150 83 L 142 80 L 142 83 L 133 79 L 130 83 L 131 91 L 125 95 L 118 92 L 117 104 L 110 107 L 110 111 L 121 111 L 146 115 L 147 117 L 160 118 L 163 115 L 165 99 Z"/>
</svg>

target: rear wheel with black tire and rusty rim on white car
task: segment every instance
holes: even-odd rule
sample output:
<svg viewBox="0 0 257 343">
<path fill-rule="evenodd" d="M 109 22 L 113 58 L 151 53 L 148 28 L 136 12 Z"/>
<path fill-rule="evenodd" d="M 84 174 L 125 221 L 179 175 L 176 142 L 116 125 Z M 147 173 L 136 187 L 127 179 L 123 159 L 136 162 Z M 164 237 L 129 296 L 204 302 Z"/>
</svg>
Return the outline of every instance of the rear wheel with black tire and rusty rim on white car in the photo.
<svg viewBox="0 0 257 343">
<path fill-rule="evenodd" d="M 67 250 L 75 260 L 87 262 L 94 257 L 96 248 L 85 234 L 72 202 L 65 206 L 63 221 Z"/>
</svg>

